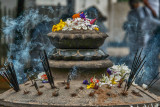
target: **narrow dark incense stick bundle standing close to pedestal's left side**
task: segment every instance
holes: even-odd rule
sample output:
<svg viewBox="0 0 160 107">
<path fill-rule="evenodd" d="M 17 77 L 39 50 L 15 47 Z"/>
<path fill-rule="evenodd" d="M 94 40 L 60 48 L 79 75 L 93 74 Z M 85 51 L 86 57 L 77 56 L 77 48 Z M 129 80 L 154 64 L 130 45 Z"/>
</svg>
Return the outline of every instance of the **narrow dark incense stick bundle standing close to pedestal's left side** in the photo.
<svg viewBox="0 0 160 107">
<path fill-rule="evenodd" d="M 48 62 L 48 57 L 47 57 L 47 54 L 46 54 L 45 50 L 43 51 L 43 53 L 40 53 L 40 59 L 42 61 L 43 69 L 44 69 L 44 71 L 47 75 L 48 82 L 50 83 L 51 88 L 55 88 L 54 77 L 52 76 L 50 66 L 49 66 L 49 62 Z"/>
</svg>

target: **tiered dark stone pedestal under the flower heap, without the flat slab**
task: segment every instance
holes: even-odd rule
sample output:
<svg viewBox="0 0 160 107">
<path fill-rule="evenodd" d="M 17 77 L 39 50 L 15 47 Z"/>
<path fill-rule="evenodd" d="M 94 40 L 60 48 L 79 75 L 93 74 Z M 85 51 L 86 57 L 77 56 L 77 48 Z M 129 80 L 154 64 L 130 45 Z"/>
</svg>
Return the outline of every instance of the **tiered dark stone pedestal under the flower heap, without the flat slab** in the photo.
<svg viewBox="0 0 160 107">
<path fill-rule="evenodd" d="M 53 54 L 50 55 L 49 63 L 53 75 L 57 78 L 62 76 L 64 78 L 67 75 L 66 71 L 74 66 L 85 71 L 87 76 L 89 74 L 93 76 L 94 73 L 101 75 L 112 66 L 112 62 L 107 59 L 109 55 L 99 49 L 108 37 L 107 34 L 96 30 L 72 30 L 51 32 L 48 36 L 56 47 Z M 84 75 L 80 77 L 85 78 Z"/>
</svg>

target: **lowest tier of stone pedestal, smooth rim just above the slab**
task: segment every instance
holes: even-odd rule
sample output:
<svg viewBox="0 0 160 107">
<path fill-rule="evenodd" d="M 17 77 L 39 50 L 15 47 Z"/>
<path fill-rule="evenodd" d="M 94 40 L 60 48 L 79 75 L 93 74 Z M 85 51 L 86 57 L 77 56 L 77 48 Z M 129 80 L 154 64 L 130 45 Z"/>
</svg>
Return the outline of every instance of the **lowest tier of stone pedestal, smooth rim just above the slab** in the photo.
<svg viewBox="0 0 160 107">
<path fill-rule="evenodd" d="M 67 80 L 67 75 L 76 66 L 76 80 L 84 80 L 93 76 L 101 77 L 113 64 L 109 59 L 97 61 L 57 61 L 49 60 L 55 80 Z"/>
</svg>

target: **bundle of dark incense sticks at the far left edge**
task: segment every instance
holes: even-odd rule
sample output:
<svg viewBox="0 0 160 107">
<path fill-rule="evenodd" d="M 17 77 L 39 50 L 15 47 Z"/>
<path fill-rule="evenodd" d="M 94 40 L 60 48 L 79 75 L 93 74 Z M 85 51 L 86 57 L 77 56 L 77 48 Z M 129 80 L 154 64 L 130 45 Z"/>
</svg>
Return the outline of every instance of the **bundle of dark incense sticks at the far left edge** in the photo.
<svg viewBox="0 0 160 107">
<path fill-rule="evenodd" d="M 8 63 L 5 66 L 5 72 L 2 72 L 0 76 L 12 87 L 16 92 L 20 90 L 16 72 L 14 70 L 13 64 Z"/>
</svg>

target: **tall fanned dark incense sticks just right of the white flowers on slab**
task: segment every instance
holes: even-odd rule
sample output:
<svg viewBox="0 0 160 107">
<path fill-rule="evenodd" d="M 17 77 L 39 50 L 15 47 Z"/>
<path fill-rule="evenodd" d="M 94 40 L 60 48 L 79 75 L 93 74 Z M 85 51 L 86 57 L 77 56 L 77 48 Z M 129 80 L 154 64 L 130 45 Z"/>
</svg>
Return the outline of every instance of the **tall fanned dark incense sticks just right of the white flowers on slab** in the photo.
<svg viewBox="0 0 160 107">
<path fill-rule="evenodd" d="M 140 52 L 137 50 L 137 52 L 135 54 L 132 68 L 131 68 L 131 72 L 130 72 L 129 78 L 128 78 L 128 80 L 125 84 L 125 87 L 124 87 L 124 93 L 126 93 L 128 91 L 128 89 L 130 88 L 130 86 L 135 81 L 136 77 L 138 76 L 139 72 L 142 71 L 144 64 L 146 63 L 146 61 L 144 61 L 146 56 L 141 58 L 142 50 L 143 50 L 143 48 L 141 49 Z"/>
</svg>

